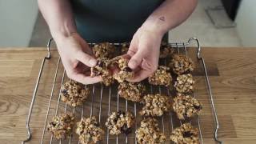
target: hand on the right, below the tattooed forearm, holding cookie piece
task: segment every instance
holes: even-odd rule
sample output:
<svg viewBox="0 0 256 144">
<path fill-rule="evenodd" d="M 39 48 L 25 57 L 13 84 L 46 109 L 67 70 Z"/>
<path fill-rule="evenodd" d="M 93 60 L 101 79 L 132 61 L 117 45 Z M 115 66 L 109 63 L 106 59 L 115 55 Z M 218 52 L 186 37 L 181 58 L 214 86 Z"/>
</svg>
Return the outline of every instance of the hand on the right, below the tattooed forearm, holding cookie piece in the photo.
<svg viewBox="0 0 256 144">
<path fill-rule="evenodd" d="M 157 70 L 161 41 L 162 34 L 142 28 L 137 30 L 127 52 L 130 56 L 128 66 L 135 70 L 134 78 L 128 81 L 140 82 Z"/>
</svg>

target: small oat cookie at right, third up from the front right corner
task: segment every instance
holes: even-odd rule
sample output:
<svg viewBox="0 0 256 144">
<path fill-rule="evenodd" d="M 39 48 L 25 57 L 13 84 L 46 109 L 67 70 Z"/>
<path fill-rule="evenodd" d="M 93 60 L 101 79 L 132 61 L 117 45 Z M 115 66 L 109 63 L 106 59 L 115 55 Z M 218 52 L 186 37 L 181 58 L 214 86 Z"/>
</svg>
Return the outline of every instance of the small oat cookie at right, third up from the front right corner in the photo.
<svg viewBox="0 0 256 144">
<path fill-rule="evenodd" d="M 175 90 L 178 93 L 192 93 L 194 91 L 194 79 L 191 74 L 178 75 L 177 81 L 174 83 Z"/>
</svg>

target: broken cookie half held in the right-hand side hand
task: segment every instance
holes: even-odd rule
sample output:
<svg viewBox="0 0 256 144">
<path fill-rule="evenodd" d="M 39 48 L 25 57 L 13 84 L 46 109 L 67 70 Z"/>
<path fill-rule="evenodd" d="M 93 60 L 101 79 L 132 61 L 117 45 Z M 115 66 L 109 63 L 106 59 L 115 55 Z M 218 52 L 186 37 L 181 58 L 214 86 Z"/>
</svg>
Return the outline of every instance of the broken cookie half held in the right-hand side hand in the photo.
<svg viewBox="0 0 256 144">
<path fill-rule="evenodd" d="M 114 74 L 114 79 L 118 82 L 124 82 L 127 78 L 134 77 L 134 71 L 128 66 L 128 59 L 116 57 L 113 59 L 114 64 L 117 64 L 119 72 Z"/>
</svg>

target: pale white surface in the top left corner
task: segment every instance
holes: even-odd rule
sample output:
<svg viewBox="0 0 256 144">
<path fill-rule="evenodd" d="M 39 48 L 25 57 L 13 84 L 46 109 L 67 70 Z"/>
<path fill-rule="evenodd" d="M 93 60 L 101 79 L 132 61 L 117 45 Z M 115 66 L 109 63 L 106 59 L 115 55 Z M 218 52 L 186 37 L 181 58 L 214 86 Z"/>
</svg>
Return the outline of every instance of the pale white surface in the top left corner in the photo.
<svg viewBox="0 0 256 144">
<path fill-rule="evenodd" d="M 28 46 L 37 15 L 36 0 L 0 0 L 0 47 Z"/>
</svg>

